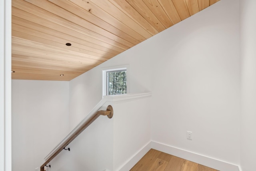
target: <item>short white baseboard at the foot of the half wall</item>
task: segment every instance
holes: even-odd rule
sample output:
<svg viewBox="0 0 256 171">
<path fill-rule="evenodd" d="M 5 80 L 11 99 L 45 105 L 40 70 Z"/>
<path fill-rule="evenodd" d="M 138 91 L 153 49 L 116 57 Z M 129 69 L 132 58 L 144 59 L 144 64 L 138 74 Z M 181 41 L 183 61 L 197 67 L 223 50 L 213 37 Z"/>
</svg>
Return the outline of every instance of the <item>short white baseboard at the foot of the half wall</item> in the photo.
<svg viewBox="0 0 256 171">
<path fill-rule="evenodd" d="M 127 163 L 125 163 L 120 169 L 117 169 L 116 171 L 129 171 L 134 167 L 136 163 L 151 149 L 151 141 L 147 143 L 144 147 L 142 147 L 134 156 L 128 160 Z"/>
</svg>

